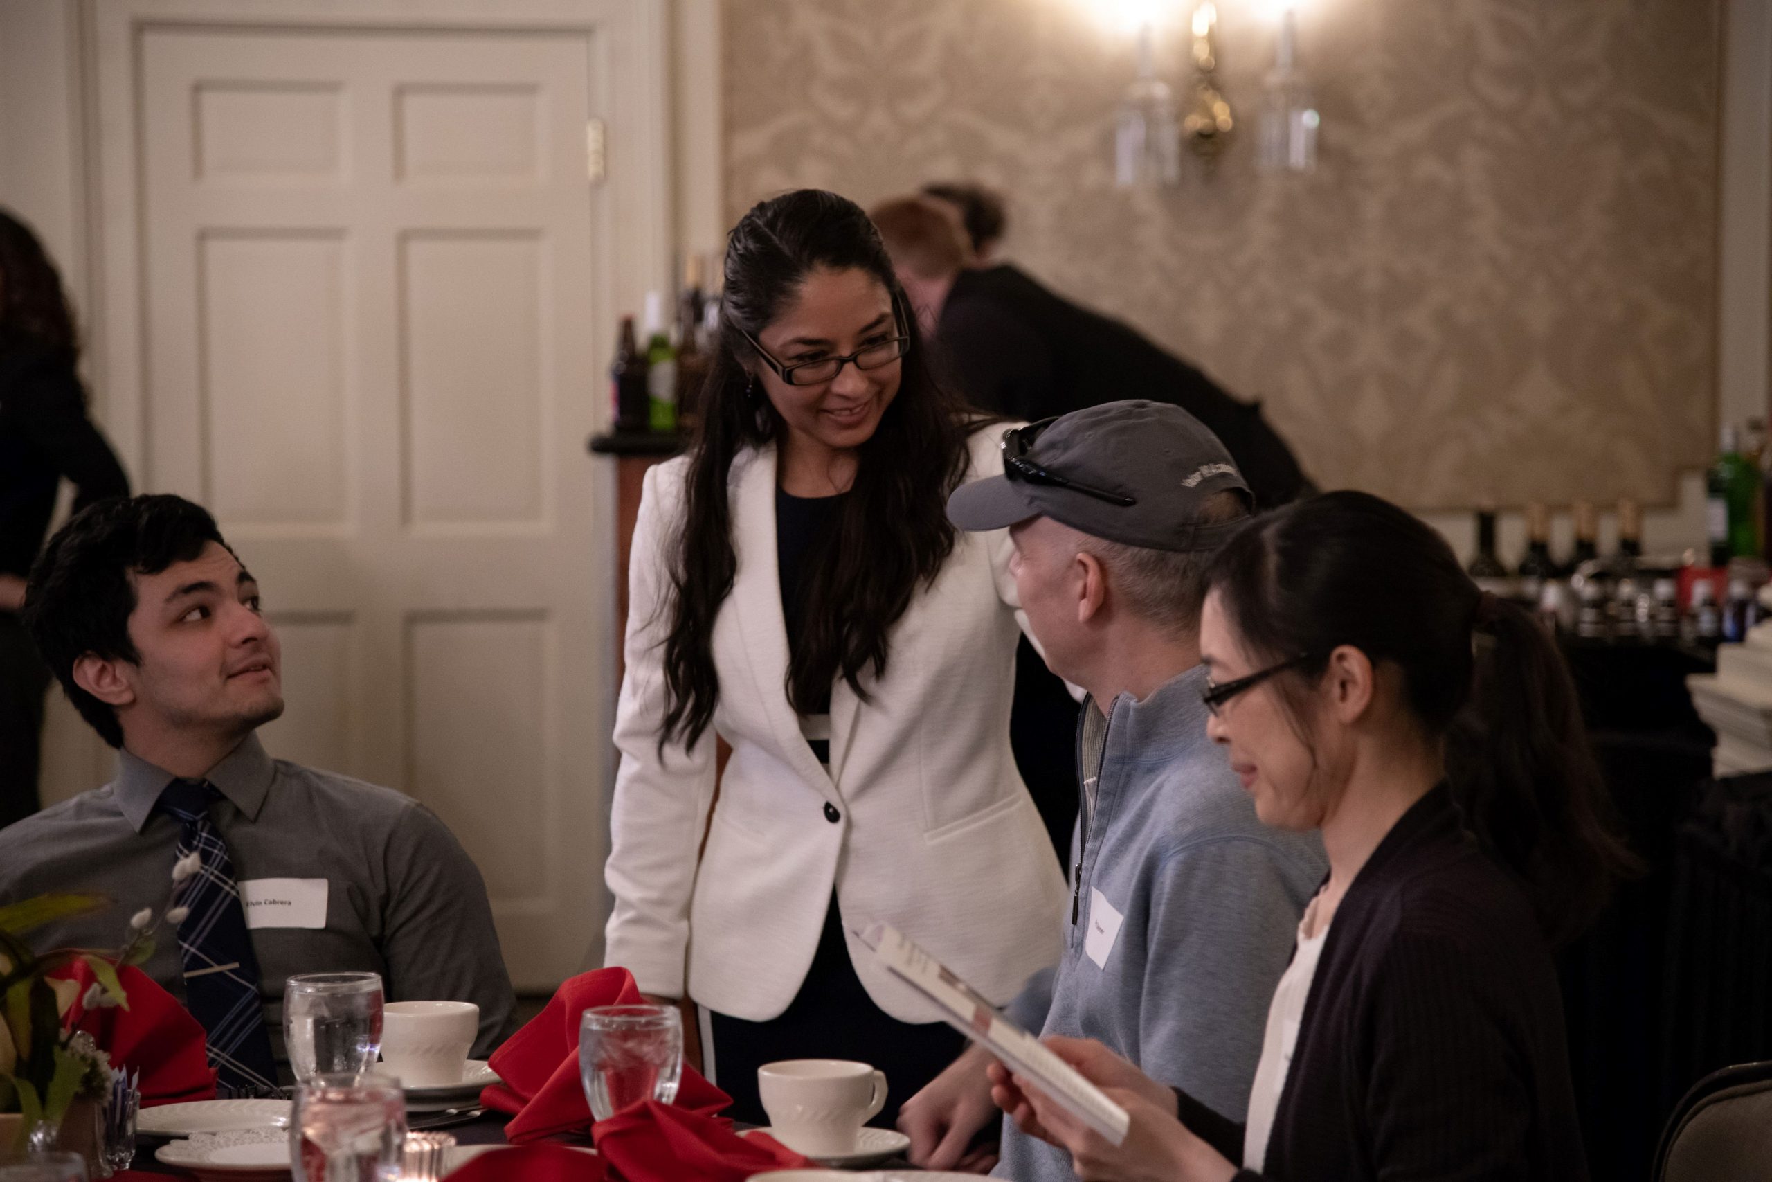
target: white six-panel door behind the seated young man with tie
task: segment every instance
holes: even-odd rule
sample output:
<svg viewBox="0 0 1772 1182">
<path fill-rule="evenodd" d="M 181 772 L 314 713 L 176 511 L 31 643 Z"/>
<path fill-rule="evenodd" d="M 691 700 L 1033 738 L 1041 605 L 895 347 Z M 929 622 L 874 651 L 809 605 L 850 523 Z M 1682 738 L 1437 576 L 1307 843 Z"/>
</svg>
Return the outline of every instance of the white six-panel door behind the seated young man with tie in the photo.
<svg viewBox="0 0 1772 1182">
<path fill-rule="evenodd" d="M 144 484 L 260 578 L 273 755 L 434 808 L 551 985 L 602 914 L 599 58 L 165 25 L 138 60 Z"/>
</svg>

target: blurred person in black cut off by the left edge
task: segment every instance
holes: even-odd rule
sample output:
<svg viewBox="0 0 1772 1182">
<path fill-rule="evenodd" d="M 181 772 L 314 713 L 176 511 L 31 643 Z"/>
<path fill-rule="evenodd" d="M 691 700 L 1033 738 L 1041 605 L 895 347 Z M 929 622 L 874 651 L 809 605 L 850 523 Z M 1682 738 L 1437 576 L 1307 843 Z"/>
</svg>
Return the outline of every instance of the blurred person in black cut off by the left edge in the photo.
<svg viewBox="0 0 1772 1182">
<path fill-rule="evenodd" d="M 87 418 L 78 356 L 55 264 L 37 236 L 0 209 L 0 828 L 37 812 L 50 670 L 18 610 L 55 493 L 62 477 L 73 480 L 76 510 L 129 493 L 122 466 Z"/>
</svg>

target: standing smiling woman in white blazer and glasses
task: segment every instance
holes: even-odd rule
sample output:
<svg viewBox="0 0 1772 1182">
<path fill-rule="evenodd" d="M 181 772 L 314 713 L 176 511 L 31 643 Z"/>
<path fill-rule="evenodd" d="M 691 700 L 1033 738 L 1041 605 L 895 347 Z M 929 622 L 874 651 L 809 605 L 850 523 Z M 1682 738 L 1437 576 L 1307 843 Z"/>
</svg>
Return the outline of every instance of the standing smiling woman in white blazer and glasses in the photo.
<svg viewBox="0 0 1772 1182">
<path fill-rule="evenodd" d="M 801 190 L 732 230 L 702 429 L 634 528 L 606 962 L 696 1003 L 737 1120 L 766 1120 L 758 1065 L 817 1056 L 884 1070 L 890 1125 L 959 1051 L 868 921 L 996 1003 L 1058 959 L 1008 746 L 1008 537 L 944 512 L 999 434 L 932 381 L 859 206 Z"/>
</svg>

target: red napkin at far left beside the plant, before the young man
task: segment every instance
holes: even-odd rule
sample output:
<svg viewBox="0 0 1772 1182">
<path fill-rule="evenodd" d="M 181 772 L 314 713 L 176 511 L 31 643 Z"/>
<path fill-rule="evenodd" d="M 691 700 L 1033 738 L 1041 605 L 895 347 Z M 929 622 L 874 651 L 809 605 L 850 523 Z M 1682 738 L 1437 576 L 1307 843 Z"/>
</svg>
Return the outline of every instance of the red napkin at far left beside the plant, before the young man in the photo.
<svg viewBox="0 0 1772 1182">
<path fill-rule="evenodd" d="M 142 1108 L 213 1100 L 216 1074 L 209 1067 L 204 1026 L 170 992 L 135 966 L 117 969 L 117 980 L 129 1008 L 85 1007 L 87 989 L 96 980 L 92 966 L 74 960 L 51 976 L 80 985 L 74 1005 L 62 1015 L 64 1030 L 83 1030 L 110 1054 L 112 1067 L 142 1072 Z"/>
</svg>

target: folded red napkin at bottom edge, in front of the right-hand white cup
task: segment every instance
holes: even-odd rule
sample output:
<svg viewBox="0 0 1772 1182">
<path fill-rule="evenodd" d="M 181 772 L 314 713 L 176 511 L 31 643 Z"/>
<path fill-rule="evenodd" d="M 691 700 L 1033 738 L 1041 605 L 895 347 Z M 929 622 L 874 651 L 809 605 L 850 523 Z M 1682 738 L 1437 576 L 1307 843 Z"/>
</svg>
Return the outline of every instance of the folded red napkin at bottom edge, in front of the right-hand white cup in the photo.
<svg viewBox="0 0 1772 1182">
<path fill-rule="evenodd" d="M 771 1136 L 741 1138 L 730 1122 L 656 1100 L 599 1120 L 592 1136 L 626 1182 L 744 1182 L 764 1170 L 812 1166 Z"/>
</svg>

